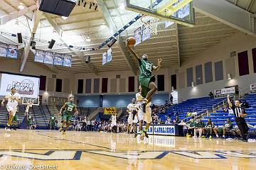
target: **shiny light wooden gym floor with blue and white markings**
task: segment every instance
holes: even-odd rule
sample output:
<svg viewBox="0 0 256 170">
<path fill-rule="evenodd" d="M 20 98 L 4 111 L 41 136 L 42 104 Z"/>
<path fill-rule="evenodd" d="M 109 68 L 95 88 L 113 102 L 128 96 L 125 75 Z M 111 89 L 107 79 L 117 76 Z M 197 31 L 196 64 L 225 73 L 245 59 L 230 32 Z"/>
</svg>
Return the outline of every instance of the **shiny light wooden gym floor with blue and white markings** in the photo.
<svg viewBox="0 0 256 170">
<path fill-rule="evenodd" d="M 255 142 L 46 130 L 0 130 L 0 169 L 255 169 Z M 48 166 L 47 166 L 48 165 Z"/>
</svg>

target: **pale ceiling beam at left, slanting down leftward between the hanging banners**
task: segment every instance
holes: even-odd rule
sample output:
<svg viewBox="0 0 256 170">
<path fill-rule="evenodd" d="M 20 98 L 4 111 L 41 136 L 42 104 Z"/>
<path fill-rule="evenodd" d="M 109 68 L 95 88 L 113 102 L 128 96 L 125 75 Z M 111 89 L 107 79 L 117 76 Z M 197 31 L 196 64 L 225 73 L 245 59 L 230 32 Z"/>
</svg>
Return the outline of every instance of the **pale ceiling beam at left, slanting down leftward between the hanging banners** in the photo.
<svg viewBox="0 0 256 170">
<path fill-rule="evenodd" d="M 33 29 L 32 29 L 32 33 L 31 33 L 31 38 L 30 38 L 29 42 L 25 45 L 24 50 L 23 50 L 23 54 L 22 54 L 22 58 L 21 58 L 20 72 L 23 72 L 23 69 L 24 69 L 25 64 L 26 64 L 26 60 L 28 59 L 28 53 L 31 50 L 30 44 L 31 44 L 31 41 L 33 41 L 34 35 L 36 34 L 36 30 L 38 28 L 38 23 L 40 22 L 42 13 L 43 12 L 39 11 L 39 9 L 37 9 L 33 13 L 33 19 L 32 19 Z"/>
</svg>

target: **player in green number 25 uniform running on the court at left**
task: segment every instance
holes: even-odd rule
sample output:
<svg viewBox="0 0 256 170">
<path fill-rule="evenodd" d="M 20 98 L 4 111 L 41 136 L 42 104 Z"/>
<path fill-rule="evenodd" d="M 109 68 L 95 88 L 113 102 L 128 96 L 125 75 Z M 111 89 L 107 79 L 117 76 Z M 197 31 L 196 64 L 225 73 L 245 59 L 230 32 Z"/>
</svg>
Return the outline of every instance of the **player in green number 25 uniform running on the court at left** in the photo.
<svg viewBox="0 0 256 170">
<path fill-rule="evenodd" d="M 68 127 L 71 125 L 73 113 L 78 114 L 78 110 L 77 110 L 75 104 L 73 103 L 73 101 L 74 101 L 74 97 L 70 96 L 68 102 L 65 103 L 62 108 L 60 108 L 60 115 L 63 112 L 63 115 L 62 115 L 63 124 L 61 125 L 61 128 L 59 131 L 61 132 L 61 130 L 63 130 L 63 126 L 66 125 L 65 130 L 63 130 L 63 134 L 65 134 L 65 131 L 68 130 Z"/>
</svg>

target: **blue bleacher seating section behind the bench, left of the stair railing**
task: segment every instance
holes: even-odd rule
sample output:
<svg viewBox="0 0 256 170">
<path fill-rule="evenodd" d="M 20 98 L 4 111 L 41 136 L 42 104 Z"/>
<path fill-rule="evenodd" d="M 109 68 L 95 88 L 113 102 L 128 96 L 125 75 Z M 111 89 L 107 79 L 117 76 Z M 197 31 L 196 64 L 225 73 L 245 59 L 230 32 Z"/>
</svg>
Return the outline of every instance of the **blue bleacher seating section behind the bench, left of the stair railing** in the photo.
<svg viewBox="0 0 256 170">
<path fill-rule="evenodd" d="M 210 97 L 188 99 L 187 101 L 183 101 L 182 103 L 171 106 L 166 110 L 166 114 L 159 115 L 159 118 L 165 121 L 166 118 L 171 115 L 171 120 L 174 120 L 175 113 L 177 113 L 180 120 L 186 120 L 186 114 L 188 111 L 196 111 L 198 115 L 200 115 L 201 113 L 205 113 L 206 110 L 212 111 L 213 105 L 220 103 L 224 99 L 225 98 Z"/>
</svg>

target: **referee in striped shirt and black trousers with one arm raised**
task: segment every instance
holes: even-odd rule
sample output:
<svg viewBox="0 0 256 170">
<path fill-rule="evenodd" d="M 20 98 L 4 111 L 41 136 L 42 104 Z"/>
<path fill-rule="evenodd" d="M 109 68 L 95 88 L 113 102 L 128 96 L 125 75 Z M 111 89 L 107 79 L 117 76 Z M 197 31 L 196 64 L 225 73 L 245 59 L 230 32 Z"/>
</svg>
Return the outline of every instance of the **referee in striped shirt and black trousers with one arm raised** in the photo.
<svg viewBox="0 0 256 170">
<path fill-rule="evenodd" d="M 228 105 L 232 108 L 233 113 L 235 115 L 235 123 L 238 125 L 238 129 L 241 132 L 242 141 L 247 142 L 249 128 L 244 118 L 247 115 L 245 113 L 245 110 L 240 107 L 240 101 L 235 101 L 235 106 L 233 106 L 233 104 L 230 101 L 229 95 L 228 95 Z"/>
</svg>

